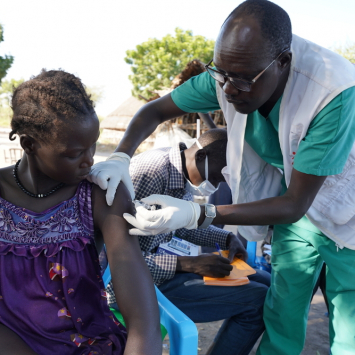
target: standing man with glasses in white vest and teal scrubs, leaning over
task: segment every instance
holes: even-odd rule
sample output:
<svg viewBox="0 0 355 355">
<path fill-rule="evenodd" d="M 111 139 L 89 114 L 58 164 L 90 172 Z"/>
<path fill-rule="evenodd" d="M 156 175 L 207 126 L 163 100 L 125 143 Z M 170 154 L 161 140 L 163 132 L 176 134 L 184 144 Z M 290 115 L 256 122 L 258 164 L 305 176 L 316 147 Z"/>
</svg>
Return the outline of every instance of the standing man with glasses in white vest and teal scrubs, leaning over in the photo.
<svg viewBox="0 0 355 355">
<path fill-rule="evenodd" d="M 258 355 L 301 353 L 323 261 L 332 354 L 355 354 L 355 69 L 292 35 L 287 13 L 265 0 L 247 0 L 228 16 L 213 64 L 145 105 L 119 153 L 95 166 L 91 179 L 105 188 L 110 178 L 111 202 L 121 175 L 130 187 L 129 156 L 158 124 L 185 112 L 221 108 L 228 128 L 222 172 L 233 205 L 200 207 L 153 195 L 144 202 L 162 209 L 138 207 L 136 216 L 127 215 L 136 227 L 131 234 L 223 223 L 238 225 L 248 240 L 260 240 L 273 224 L 266 331 Z M 234 347 L 223 354 L 243 352 Z"/>
</svg>

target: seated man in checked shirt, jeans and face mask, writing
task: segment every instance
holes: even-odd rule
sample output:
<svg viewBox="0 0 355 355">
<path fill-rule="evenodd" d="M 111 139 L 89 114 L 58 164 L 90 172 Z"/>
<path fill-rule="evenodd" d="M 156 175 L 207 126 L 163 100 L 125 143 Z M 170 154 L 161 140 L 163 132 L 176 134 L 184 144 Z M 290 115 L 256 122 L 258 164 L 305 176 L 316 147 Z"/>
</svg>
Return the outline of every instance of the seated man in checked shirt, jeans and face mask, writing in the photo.
<svg viewBox="0 0 355 355">
<path fill-rule="evenodd" d="M 189 149 L 181 143 L 174 148 L 150 150 L 132 159 L 130 175 L 136 199 L 152 194 L 172 196 L 192 201 L 193 196 L 209 196 L 224 181 L 221 174 L 226 165 L 227 131 L 211 129 Z M 262 308 L 268 290 L 269 273 L 256 270 L 243 286 L 203 286 L 203 276 L 229 275 L 234 255 L 246 259 L 246 251 L 239 239 L 228 231 L 209 226 L 206 229 L 178 229 L 174 233 L 201 246 L 229 250 L 229 260 L 219 255 L 176 256 L 156 254 L 161 243 L 167 243 L 173 233 L 139 236 L 143 256 L 155 284 L 160 291 L 194 322 L 212 322 L 225 319 L 212 348 L 219 354 L 234 346 L 249 353 L 264 330 Z M 185 283 L 190 281 L 190 286 Z M 114 286 L 114 282 L 113 282 Z M 108 301 L 116 308 L 114 287 L 108 287 Z"/>
</svg>

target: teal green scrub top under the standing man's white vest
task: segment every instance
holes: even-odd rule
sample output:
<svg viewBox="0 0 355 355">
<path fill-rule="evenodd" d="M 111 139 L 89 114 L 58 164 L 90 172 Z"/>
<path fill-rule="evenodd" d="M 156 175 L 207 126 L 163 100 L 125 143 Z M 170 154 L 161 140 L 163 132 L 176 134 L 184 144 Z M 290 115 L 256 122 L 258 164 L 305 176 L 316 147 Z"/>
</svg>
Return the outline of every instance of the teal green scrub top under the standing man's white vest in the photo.
<svg viewBox="0 0 355 355">
<path fill-rule="evenodd" d="M 177 87 L 171 97 L 185 112 L 210 112 L 219 110 L 216 81 L 202 73 Z M 247 117 L 245 140 L 267 163 L 283 169 L 279 141 L 279 113 L 282 97 L 265 119 L 259 111 Z M 301 141 L 294 158 L 294 169 L 310 175 L 340 174 L 355 141 L 355 87 L 335 97 L 312 120 L 306 136 Z M 287 190 L 285 179 L 281 182 L 281 195 Z M 293 223 L 302 229 L 322 234 L 306 216 Z"/>
</svg>

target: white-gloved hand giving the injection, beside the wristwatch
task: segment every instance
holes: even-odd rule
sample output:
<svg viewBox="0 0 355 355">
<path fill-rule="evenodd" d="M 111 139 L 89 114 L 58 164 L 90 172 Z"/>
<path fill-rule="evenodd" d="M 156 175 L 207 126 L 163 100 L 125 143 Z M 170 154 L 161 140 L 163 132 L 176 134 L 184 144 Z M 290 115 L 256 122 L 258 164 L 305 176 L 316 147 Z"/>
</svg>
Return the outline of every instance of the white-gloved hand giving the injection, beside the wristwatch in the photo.
<svg viewBox="0 0 355 355">
<path fill-rule="evenodd" d="M 160 210 L 147 210 L 136 203 L 136 216 L 124 213 L 123 217 L 132 224 L 131 235 L 156 235 L 168 233 L 179 228 L 196 229 L 200 218 L 200 205 L 180 200 L 171 196 L 151 195 L 142 198 L 141 202 L 148 205 L 161 205 Z"/>
</svg>

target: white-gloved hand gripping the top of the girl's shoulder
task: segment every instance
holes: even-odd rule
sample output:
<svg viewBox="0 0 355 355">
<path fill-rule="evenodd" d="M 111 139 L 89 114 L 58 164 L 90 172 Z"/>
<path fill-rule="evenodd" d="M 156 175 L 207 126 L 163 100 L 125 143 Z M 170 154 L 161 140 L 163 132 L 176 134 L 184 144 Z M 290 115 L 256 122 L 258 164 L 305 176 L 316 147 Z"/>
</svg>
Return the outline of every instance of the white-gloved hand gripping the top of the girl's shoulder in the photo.
<svg viewBox="0 0 355 355">
<path fill-rule="evenodd" d="M 97 163 L 91 168 L 87 179 L 99 185 L 102 190 L 107 189 L 106 202 L 109 206 L 112 205 L 120 181 L 125 184 L 134 200 L 134 188 L 128 170 L 130 161 L 129 155 L 118 152 L 111 154 L 106 161 Z"/>
</svg>

